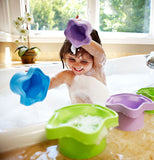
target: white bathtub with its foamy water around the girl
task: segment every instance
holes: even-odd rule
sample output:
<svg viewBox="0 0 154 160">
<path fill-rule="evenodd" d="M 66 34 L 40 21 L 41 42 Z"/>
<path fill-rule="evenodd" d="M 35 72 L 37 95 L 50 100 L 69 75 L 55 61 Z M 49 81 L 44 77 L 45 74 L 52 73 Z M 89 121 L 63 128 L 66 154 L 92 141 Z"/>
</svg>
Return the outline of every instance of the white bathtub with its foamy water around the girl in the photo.
<svg viewBox="0 0 154 160">
<path fill-rule="evenodd" d="M 27 71 L 31 66 L 49 76 L 63 70 L 61 62 L 0 69 L 0 152 L 45 141 L 45 124 L 53 112 L 71 104 L 66 85 L 50 90 L 42 102 L 32 106 L 20 104 L 19 95 L 10 91 L 9 82 L 16 72 Z M 154 87 L 154 70 L 146 66 L 144 55 L 107 60 L 105 72 L 111 95 Z"/>
</svg>

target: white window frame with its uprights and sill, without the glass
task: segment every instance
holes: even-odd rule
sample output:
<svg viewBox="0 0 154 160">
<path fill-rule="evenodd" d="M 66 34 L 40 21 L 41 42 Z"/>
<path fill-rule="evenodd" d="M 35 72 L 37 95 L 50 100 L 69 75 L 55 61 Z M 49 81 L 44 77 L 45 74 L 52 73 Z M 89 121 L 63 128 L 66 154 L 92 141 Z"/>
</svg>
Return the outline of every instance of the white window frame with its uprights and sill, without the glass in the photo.
<svg viewBox="0 0 154 160">
<path fill-rule="evenodd" d="M 9 33 L 0 30 L 0 41 L 14 41 L 17 37 L 15 27 L 11 21 L 22 15 L 24 0 L 1 0 L 5 13 L 2 13 L 8 24 Z M 7 12 L 6 12 L 7 11 Z M 149 33 L 122 33 L 99 31 L 99 0 L 87 0 L 87 17 L 92 26 L 98 30 L 103 44 L 154 44 L 154 0 L 151 0 L 150 32 Z M 3 24 L 3 23 L 1 23 Z M 1 27 L 3 29 L 3 27 Z M 1 29 L 0 28 L 0 29 Z M 63 31 L 31 31 L 31 42 L 36 43 L 62 43 L 65 39 Z"/>
</svg>

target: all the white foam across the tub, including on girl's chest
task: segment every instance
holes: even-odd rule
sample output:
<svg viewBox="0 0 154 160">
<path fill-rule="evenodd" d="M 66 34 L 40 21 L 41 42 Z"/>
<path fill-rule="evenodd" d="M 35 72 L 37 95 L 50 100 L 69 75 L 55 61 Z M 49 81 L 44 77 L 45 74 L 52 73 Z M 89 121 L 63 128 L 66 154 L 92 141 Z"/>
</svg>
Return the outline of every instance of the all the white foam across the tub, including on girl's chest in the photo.
<svg viewBox="0 0 154 160">
<path fill-rule="evenodd" d="M 153 77 L 148 74 L 115 74 L 107 76 L 107 87 L 110 94 L 135 93 L 138 89 L 153 83 Z M 141 81 L 142 79 L 142 81 Z M 76 76 L 71 87 L 72 101 L 76 96 L 89 98 L 92 103 L 104 106 L 109 96 L 108 89 L 101 82 L 89 76 Z M 69 92 L 66 85 L 48 91 L 44 101 L 24 106 L 20 97 L 14 94 L 8 86 L 0 90 L 0 131 L 27 125 L 47 122 L 56 109 L 70 105 Z"/>
</svg>

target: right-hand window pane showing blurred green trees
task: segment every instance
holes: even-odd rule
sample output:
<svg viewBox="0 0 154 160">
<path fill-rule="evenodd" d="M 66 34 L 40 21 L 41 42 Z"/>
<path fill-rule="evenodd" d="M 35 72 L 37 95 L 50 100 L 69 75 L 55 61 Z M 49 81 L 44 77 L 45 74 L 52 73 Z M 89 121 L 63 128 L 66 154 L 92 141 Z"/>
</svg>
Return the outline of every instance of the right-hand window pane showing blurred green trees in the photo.
<svg viewBox="0 0 154 160">
<path fill-rule="evenodd" d="M 149 33 L 150 0 L 100 0 L 99 28 L 104 32 Z"/>
</svg>

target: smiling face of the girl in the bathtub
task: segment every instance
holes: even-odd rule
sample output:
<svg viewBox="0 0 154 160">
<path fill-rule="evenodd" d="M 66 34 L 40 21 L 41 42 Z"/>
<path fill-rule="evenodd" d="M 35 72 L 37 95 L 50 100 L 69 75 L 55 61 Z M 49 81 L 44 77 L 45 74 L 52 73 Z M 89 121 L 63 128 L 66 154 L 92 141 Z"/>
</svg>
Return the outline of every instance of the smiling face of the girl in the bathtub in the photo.
<svg viewBox="0 0 154 160">
<path fill-rule="evenodd" d="M 82 75 L 90 71 L 93 67 L 93 57 L 85 50 L 77 54 L 67 53 L 65 55 L 66 64 L 76 75 Z"/>
</svg>

